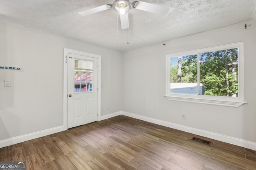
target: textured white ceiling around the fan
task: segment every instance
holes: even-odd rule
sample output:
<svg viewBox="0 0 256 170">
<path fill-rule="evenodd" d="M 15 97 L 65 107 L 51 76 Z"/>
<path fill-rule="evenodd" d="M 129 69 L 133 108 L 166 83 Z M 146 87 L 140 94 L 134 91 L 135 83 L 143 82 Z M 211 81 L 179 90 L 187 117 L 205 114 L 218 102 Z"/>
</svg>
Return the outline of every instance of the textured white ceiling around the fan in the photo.
<svg viewBox="0 0 256 170">
<path fill-rule="evenodd" d="M 127 30 L 120 28 L 120 19 L 113 9 L 78 15 L 90 8 L 112 4 L 114 0 L 0 0 L 0 21 L 126 51 L 253 20 L 256 15 L 256 0 L 141 1 L 167 6 L 170 11 L 166 16 L 159 16 L 133 8 L 129 11 Z M 144 23 L 148 19 L 152 22 Z"/>
</svg>

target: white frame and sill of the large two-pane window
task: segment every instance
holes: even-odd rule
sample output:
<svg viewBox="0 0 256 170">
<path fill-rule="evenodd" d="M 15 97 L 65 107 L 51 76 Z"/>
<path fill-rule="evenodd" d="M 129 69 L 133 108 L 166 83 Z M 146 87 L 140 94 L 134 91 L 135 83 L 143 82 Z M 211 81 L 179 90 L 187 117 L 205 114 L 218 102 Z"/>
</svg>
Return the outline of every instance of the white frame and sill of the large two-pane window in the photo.
<svg viewBox="0 0 256 170">
<path fill-rule="evenodd" d="M 211 51 L 220 51 L 225 49 L 238 48 L 238 97 L 228 96 L 208 96 L 199 94 L 178 94 L 170 92 L 170 58 L 186 55 L 197 54 L 197 86 L 200 84 L 200 53 L 207 53 Z M 196 49 L 192 51 L 185 51 L 180 53 L 173 53 L 166 55 L 166 95 L 168 100 L 192 102 L 200 104 L 210 104 L 218 106 L 239 107 L 244 102 L 244 42 L 231 43 L 226 45 L 218 45 L 214 47 L 207 47 L 203 49 Z"/>
</svg>

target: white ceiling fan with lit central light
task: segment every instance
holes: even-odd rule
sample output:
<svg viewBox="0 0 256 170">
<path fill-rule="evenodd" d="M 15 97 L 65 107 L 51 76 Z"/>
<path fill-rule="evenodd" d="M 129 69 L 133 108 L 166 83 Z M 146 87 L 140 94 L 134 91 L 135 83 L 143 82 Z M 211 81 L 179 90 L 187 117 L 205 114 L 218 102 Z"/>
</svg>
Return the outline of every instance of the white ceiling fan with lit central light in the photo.
<svg viewBox="0 0 256 170">
<path fill-rule="evenodd" d="M 110 8 L 113 8 L 116 12 L 120 13 L 120 21 L 121 21 L 122 29 L 126 29 L 129 27 L 128 10 L 130 10 L 131 8 L 136 8 L 138 10 L 151 12 L 159 15 L 165 15 L 169 11 L 169 8 L 166 6 L 158 6 L 158 5 L 150 4 L 147 2 L 142 2 L 137 0 L 134 2 L 130 2 L 130 0 L 115 0 L 113 4 L 98 6 L 90 10 L 79 12 L 78 14 L 81 16 L 87 16 L 90 14 L 108 10 Z"/>
</svg>

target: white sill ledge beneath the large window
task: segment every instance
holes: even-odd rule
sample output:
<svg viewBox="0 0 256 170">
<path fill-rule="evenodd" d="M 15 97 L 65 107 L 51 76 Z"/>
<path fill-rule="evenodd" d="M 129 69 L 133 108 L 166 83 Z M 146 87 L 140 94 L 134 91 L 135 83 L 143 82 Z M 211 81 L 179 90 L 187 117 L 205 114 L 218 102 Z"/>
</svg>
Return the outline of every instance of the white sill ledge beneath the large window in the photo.
<svg viewBox="0 0 256 170">
<path fill-rule="evenodd" d="M 220 101 L 220 100 L 209 100 L 209 99 L 199 99 L 199 98 L 190 98 L 190 97 L 177 97 L 177 96 L 164 96 L 168 100 L 180 101 L 180 102 L 190 102 L 190 103 L 199 103 L 199 104 L 209 104 L 216 106 L 228 106 L 228 107 L 239 107 L 246 102 L 234 102 L 234 101 Z"/>
</svg>

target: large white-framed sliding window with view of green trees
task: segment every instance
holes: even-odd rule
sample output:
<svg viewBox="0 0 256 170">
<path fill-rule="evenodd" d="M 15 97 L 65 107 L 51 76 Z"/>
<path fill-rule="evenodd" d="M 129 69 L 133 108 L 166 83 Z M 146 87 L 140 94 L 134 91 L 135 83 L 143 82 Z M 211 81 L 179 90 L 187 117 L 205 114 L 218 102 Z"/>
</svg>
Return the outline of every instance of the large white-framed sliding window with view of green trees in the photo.
<svg viewBox="0 0 256 170">
<path fill-rule="evenodd" d="M 244 104 L 243 42 L 166 55 L 168 100 L 219 106 Z"/>
</svg>

